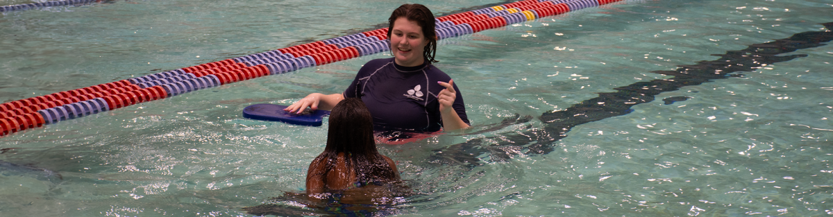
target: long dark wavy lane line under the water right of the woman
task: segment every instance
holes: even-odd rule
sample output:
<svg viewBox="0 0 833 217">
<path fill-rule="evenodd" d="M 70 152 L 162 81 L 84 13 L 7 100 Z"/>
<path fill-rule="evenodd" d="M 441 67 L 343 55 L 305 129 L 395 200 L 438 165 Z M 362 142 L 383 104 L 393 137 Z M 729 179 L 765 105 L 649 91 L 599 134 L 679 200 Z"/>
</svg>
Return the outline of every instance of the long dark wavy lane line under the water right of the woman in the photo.
<svg viewBox="0 0 833 217">
<path fill-rule="evenodd" d="M 465 143 L 451 145 L 435 150 L 431 163 L 441 165 L 481 165 L 477 156 L 488 154 L 489 160 L 501 162 L 511 159 L 513 155 L 546 155 L 555 148 L 555 141 L 566 137 L 573 126 L 600 121 L 614 116 L 623 116 L 631 111 L 632 106 L 654 101 L 654 96 L 667 91 L 677 91 L 683 86 L 696 86 L 716 79 L 725 79 L 733 72 L 752 72 L 776 62 L 786 62 L 805 54 L 777 56 L 795 52 L 799 49 L 821 47 L 833 40 L 833 22 L 821 23 L 828 31 L 801 32 L 778 39 L 775 42 L 753 44 L 746 49 L 715 54 L 721 57 L 714 61 L 701 61 L 696 65 L 679 66 L 675 71 L 654 71 L 653 73 L 673 76 L 666 79 L 636 82 L 628 86 L 614 88 L 615 92 L 599 93 L 599 96 L 573 105 L 562 111 L 547 111 L 539 119 L 544 123 L 542 129 L 530 129 L 523 132 L 505 133 L 501 136 L 474 139 Z M 765 65 L 766 64 L 766 65 Z M 671 99 L 680 101 L 681 99 Z M 531 127 L 531 126 L 530 126 Z M 488 144 L 487 141 L 500 141 Z"/>
</svg>

